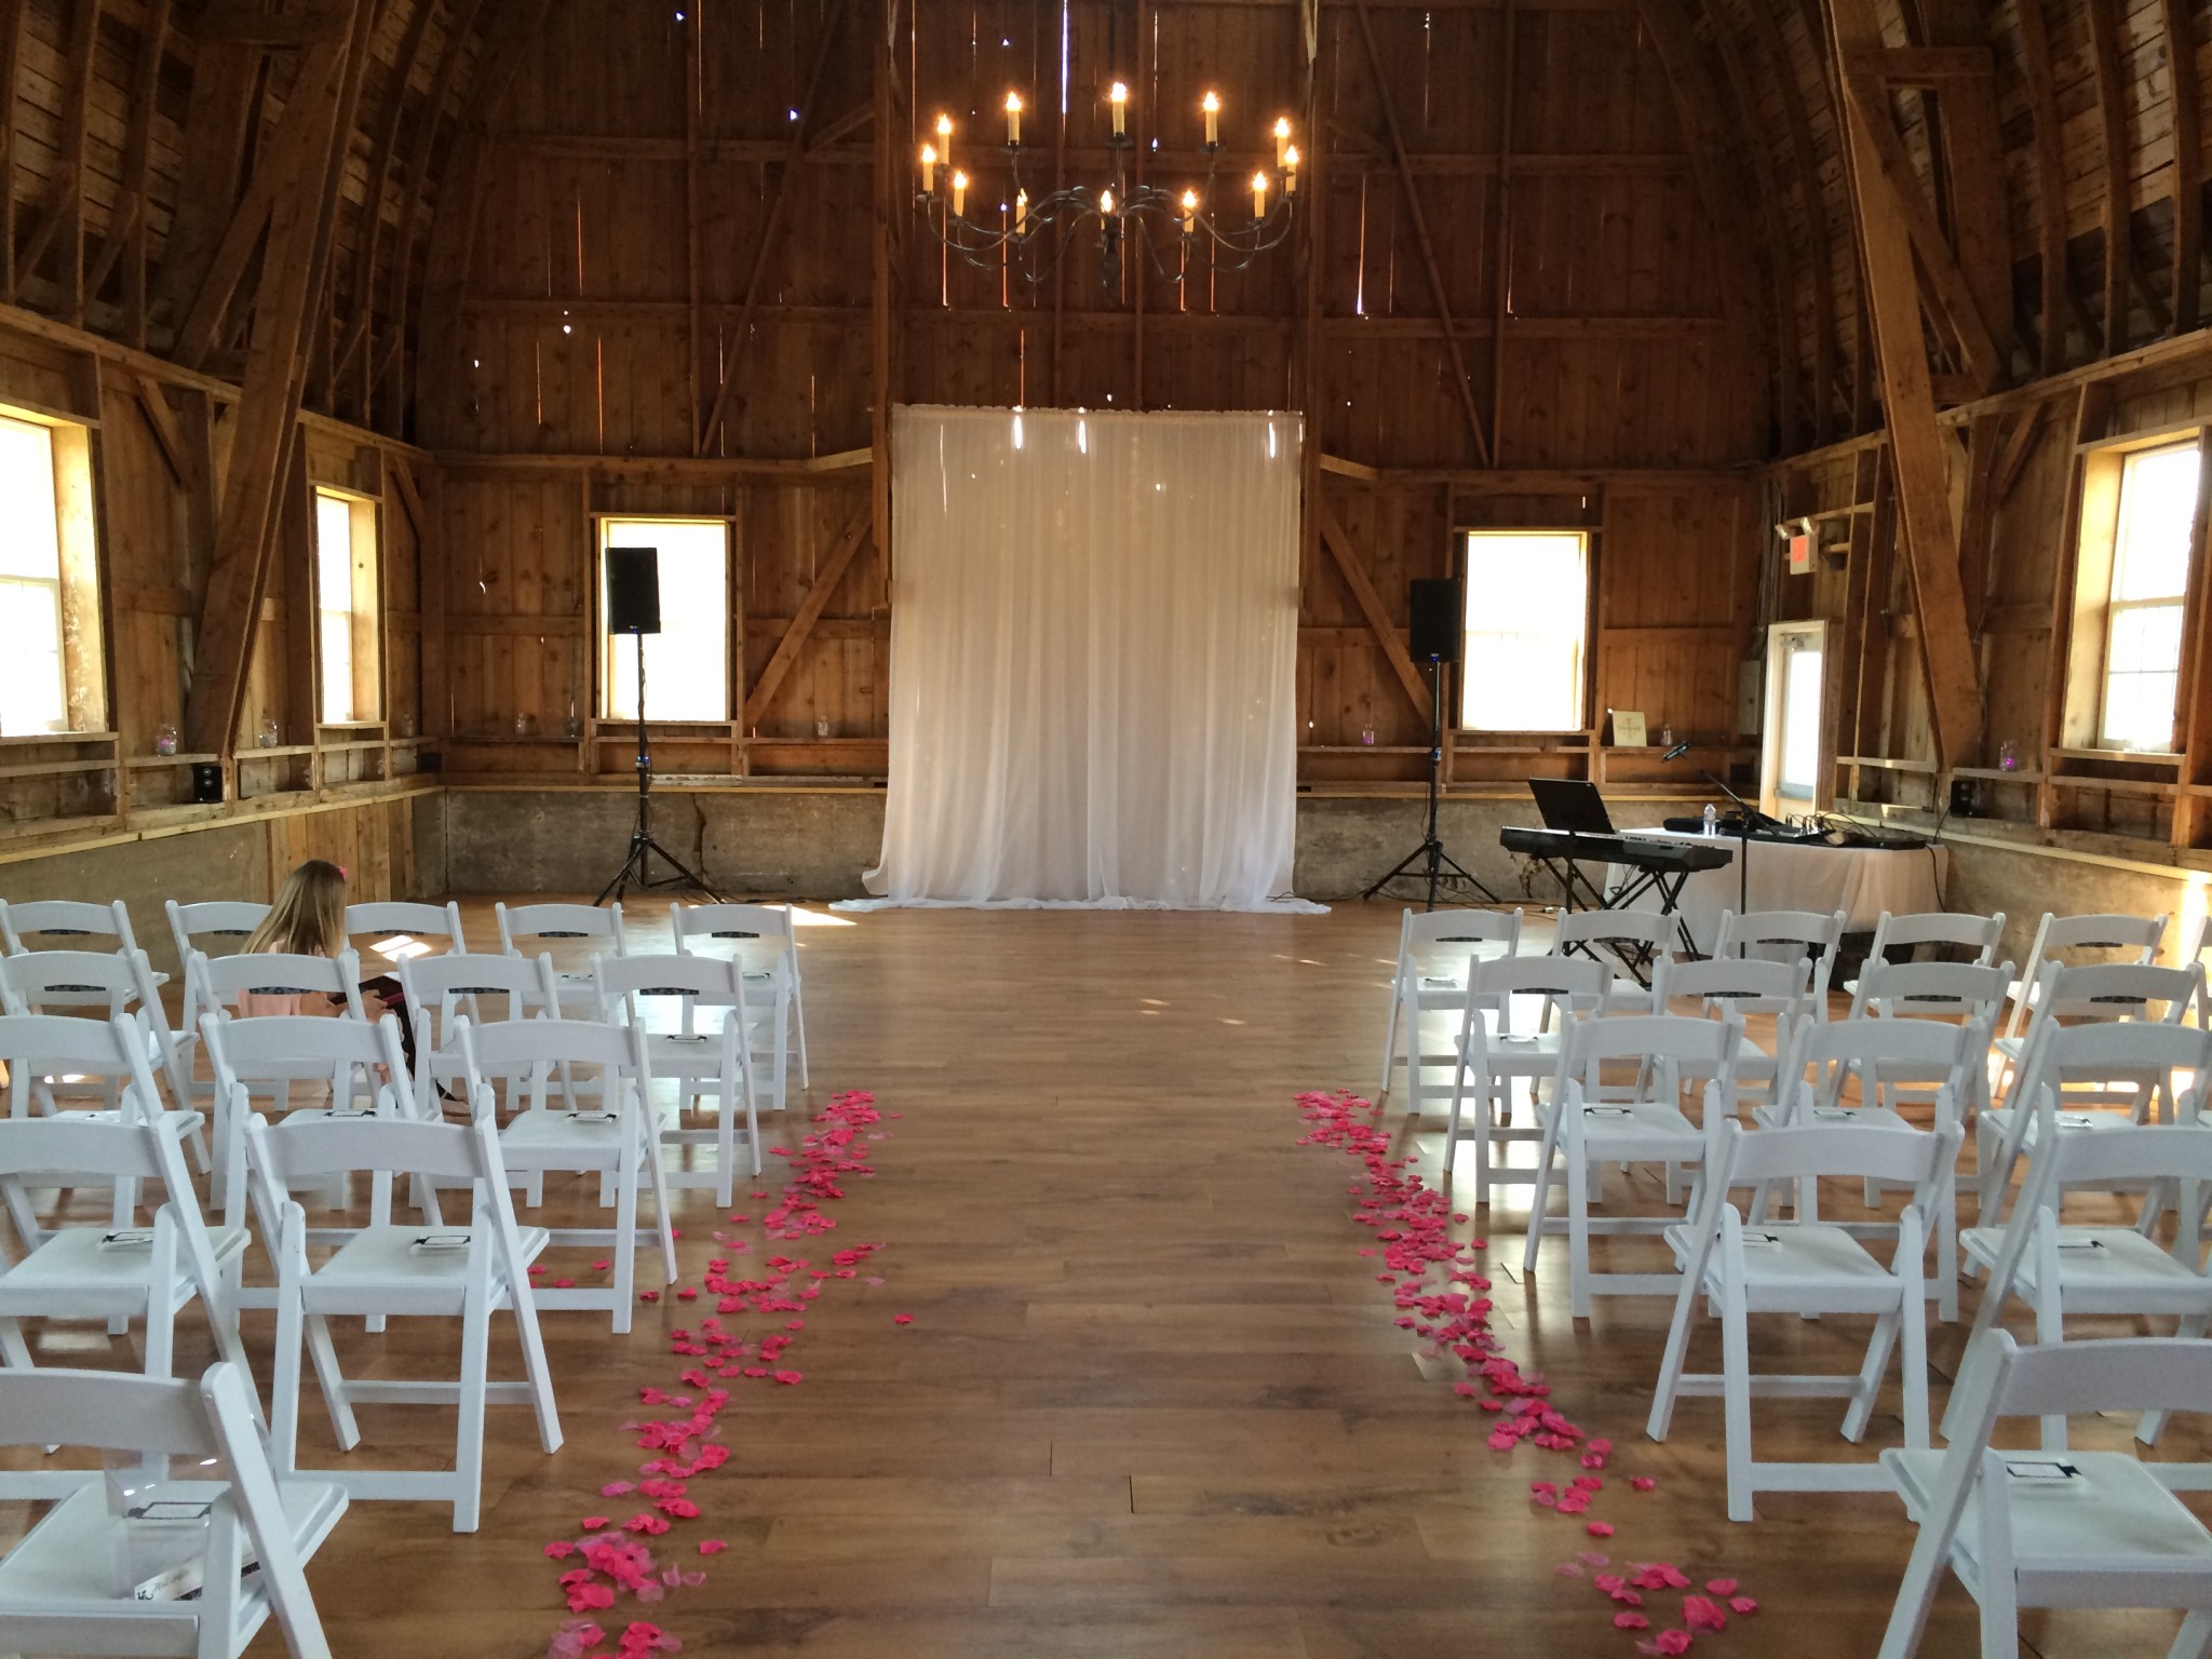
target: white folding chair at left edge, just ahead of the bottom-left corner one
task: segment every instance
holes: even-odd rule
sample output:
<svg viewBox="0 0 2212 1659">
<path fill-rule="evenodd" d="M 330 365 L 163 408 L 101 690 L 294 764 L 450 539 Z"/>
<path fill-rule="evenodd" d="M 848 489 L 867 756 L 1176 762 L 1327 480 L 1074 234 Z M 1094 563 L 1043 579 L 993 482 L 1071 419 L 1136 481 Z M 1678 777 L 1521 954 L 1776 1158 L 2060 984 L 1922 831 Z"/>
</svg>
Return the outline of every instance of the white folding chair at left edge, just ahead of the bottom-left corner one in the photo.
<svg viewBox="0 0 2212 1659">
<path fill-rule="evenodd" d="M 117 1040 L 126 1035 L 117 1031 Z M 190 1128 L 186 1113 L 0 1117 L 0 1203 L 22 1245 L 20 1259 L 0 1250 L 0 1354 L 11 1367 L 31 1365 L 22 1336 L 27 1318 L 100 1318 L 111 1334 L 128 1321 L 146 1321 L 146 1376 L 168 1376 L 177 1314 L 197 1298 L 217 1352 L 246 1374 L 228 1285 L 246 1252 L 246 1230 L 210 1232 L 201 1219 L 184 1168 Z M 135 1201 L 117 1203 L 106 1223 L 42 1223 L 33 1190 L 73 1188 L 86 1177 L 117 1192 L 157 1181 L 164 1203 L 153 1225 L 137 1223 Z"/>
</svg>

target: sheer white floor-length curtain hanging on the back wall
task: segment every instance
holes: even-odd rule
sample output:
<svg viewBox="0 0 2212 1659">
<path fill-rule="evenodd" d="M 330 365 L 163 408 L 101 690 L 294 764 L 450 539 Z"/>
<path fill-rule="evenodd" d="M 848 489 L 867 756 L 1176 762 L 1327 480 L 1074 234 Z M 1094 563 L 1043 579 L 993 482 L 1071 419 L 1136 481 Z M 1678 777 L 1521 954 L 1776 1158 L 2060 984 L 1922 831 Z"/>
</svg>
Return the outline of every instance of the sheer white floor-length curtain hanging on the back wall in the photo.
<svg viewBox="0 0 2212 1659">
<path fill-rule="evenodd" d="M 894 411 L 872 894 L 1287 900 L 1298 445 L 1294 414 Z"/>
</svg>

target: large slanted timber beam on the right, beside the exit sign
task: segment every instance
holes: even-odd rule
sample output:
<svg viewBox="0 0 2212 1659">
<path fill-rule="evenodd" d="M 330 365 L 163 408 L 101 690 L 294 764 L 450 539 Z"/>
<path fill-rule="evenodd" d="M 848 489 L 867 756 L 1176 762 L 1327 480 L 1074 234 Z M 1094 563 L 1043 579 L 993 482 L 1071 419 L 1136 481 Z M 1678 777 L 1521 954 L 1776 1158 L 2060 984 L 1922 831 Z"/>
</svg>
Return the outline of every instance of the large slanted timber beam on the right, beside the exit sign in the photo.
<svg viewBox="0 0 2212 1659">
<path fill-rule="evenodd" d="M 1829 0 L 1836 60 L 1880 44 L 1876 0 Z M 1920 325 L 1920 283 L 1913 243 L 1893 208 L 1893 190 L 1878 188 L 1882 155 L 1863 100 L 1847 75 L 1845 128 L 1851 146 L 1851 195 L 1858 241 L 1874 310 L 1874 347 L 1882 372 L 1882 411 L 1896 462 L 1898 520 L 1905 531 L 1913 615 L 1920 617 L 1920 659 L 1929 686 L 1929 726 L 1938 765 L 1966 765 L 1982 741 L 1982 681 L 1975 672 L 1966 599 L 1958 580 L 1958 531 L 1951 522 L 1951 482 L 1944 438 L 1936 427 L 1936 394 Z"/>
</svg>

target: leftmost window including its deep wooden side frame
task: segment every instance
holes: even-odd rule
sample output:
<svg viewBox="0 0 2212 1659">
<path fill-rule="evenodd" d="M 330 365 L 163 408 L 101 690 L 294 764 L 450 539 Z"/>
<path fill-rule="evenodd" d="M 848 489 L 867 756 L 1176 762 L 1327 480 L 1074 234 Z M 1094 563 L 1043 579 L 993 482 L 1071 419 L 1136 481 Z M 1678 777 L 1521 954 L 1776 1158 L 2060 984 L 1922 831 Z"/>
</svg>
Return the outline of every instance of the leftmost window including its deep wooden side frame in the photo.
<svg viewBox="0 0 2212 1659">
<path fill-rule="evenodd" d="M 66 420 L 0 409 L 0 734 L 106 726 L 93 442 Z"/>
</svg>

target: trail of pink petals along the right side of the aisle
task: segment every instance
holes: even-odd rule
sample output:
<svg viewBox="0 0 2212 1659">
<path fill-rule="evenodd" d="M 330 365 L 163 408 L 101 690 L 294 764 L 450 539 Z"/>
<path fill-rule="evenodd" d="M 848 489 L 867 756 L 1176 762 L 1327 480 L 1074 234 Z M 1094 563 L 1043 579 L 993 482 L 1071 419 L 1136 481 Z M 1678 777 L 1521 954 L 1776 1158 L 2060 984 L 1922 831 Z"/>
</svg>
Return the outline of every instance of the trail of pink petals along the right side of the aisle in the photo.
<svg viewBox="0 0 2212 1659">
<path fill-rule="evenodd" d="M 1380 1128 L 1383 1110 L 1352 1093 L 1307 1091 L 1298 1095 L 1298 1113 L 1312 1126 L 1298 1137 L 1298 1146 L 1332 1146 L 1345 1157 L 1365 1166 L 1365 1181 L 1349 1188 L 1358 1199 L 1354 1221 L 1376 1237 L 1376 1248 L 1363 1248 L 1363 1256 L 1383 1256 L 1378 1283 L 1391 1287 L 1398 1303 L 1398 1325 L 1431 1343 L 1431 1352 L 1455 1354 L 1475 1380 L 1453 1383 L 1451 1391 L 1462 1400 L 1495 1416 L 1489 1431 L 1491 1451 L 1513 1451 L 1522 1440 L 1528 1444 L 1575 1458 L 1582 1467 L 1562 1486 L 1555 1480 L 1531 1480 L 1528 1498 L 1537 1509 L 1551 1509 L 1582 1522 L 1582 1531 L 1593 1540 L 1615 1535 L 1615 1524 L 1599 1520 L 1593 1511 L 1606 1491 L 1599 1473 L 1613 1458 L 1613 1442 L 1593 1436 L 1571 1422 L 1551 1405 L 1551 1385 L 1542 1376 L 1524 1374 L 1491 1334 L 1491 1281 L 1473 1270 L 1475 1256 L 1484 1250 L 1482 1239 L 1469 1243 L 1451 1241 L 1451 1223 L 1467 1221 L 1453 1214 L 1444 1197 L 1413 1172 L 1413 1157 L 1391 1157 L 1389 1135 Z M 1440 1270 L 1444 1285 L 1429 1287 L 1429 1272 Z M 1650 1475 L 1630 1475 L 1630 1489 L 1652 1491 Z M 1688 1652 L 1699 1635 L 1714 1635 L 1728 1628 L 1730 1615 L 1750 1615 L 1759 1604 L 1741 1595 L 1736 1579 L 1708 1579 L 1703 1595 L 1672 1562 L 1630 1562 L 1624 1573 L 1606 1571 L 1613 1557 L 1599 1551 L 1579 1551 L 1575 1559 L 1562 1562 L 1559 1577 L 1588 1579 L 1595 1590 L 1617 1608 L 1613 1626 L 1637 1635 L 1637 1652 L 1677 1655 Z M 1659 1597 L 1672 1599 L 1679 1590 L 1681 1624 L 1663 1624 L 1668 1615 Z M 1650 1632 L 1650 1635 L 1644 1635 Z"/>
</svg>

